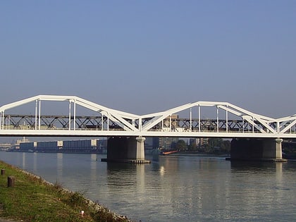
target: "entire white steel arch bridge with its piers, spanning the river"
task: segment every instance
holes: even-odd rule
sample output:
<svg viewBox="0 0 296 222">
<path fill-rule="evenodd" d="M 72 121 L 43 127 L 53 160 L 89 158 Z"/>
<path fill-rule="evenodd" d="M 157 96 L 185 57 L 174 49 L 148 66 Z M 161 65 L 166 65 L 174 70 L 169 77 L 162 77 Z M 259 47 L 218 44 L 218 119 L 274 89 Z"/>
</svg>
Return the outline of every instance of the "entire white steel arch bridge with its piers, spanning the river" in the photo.
<svg viewBox="0 0 296 222">
<path fill-rule="evenodd" d="M 59 114 L 53 115 L 43 107 L 54 108 Z M 22 109 L 26 114 L 25 111 L 20 114 Z M 116 139 L 110 141 L 110 146 L 126 147 L 127 152 L 130 146 L 144 150 L 144 137 L 240 138 L 244 144 L 250 139 L 259 139 L 276 141 L 278 146 L 283 138 L 296 137 L 295 125 L 296 115 L 269 118 L 216 101 L 197 101 L 145 115 L 110 109 L 75 96 L 39 95 L 0 107 L 0 136 L 112 137 Z M 141 145 L 126 141 L 130 137 L 136 137 Z M 118 138 L 125 138 L 125 142 L 122 144 L 123 140 L 120 142 Z M 260 146 L 265 150 L 268 143 L 264 144 Z M 280 154 L 267 156 L 281 159 L 281 147 L 276 150 L 280 150 Z M 135 159 L 143 159 L 142 152 Z"/>
</svg>

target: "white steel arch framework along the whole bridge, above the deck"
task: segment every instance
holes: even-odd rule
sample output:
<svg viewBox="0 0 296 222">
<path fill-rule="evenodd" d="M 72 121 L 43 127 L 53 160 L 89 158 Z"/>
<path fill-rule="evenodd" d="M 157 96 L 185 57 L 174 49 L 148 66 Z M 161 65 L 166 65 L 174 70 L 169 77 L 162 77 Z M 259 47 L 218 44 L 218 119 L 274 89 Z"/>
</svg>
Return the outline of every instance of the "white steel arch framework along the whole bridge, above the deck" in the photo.
<svg viewBox="0 0 296 222">
<path fill-rule="evenodd" d="M 69 116 L 44 116 L 40 111 L 41 101 L 66 101 Z M 7 115 L 6 111 L 17 106 L 35 102 L 35 115 Z M 71 106 L 73 105 L 73 106 Z M 82 106 L 97 113 L 97 116 L 77 116 L 76 106 Z M 204 107 L 216 109 L 216 118 L 203 119 Z M 198 116 L 192 117 L 192 109 Z M 187 118 L 172 117 L 176 113 L 187 112 Z M 221 114 L 221 111 L 223 114 Z M 195 112 L 195 115 L 197 114 Z M 221 115 L 225 115 L 221 118 Z M 232 118 L 228 118 L 231 115 Z M 25 124 L 23 124 L 25 123 Z M 294 133 L 296 115 L 285 118 L 269 118 L 252 113 L 227 102 L 197 101 L 178 106 L 167 111 L 147 115 L 135 115 L 74 96 L 39 95 L 0 107 L 0 130 L 11 127 L 22 129 L 68 129 L 68 130 L 119 130 L 132 135 L 152 135 L 152 132 L 248 132 L 262 135 L 283 135 Z M 5 126 L 5 127 L 4 127 Z M 185 133 L 184 133 L 185 134 Z M 156 133 L 155 133 L 156 135 Z M 180 136 L 182 136 L 180 134 Z"/>
</svg>

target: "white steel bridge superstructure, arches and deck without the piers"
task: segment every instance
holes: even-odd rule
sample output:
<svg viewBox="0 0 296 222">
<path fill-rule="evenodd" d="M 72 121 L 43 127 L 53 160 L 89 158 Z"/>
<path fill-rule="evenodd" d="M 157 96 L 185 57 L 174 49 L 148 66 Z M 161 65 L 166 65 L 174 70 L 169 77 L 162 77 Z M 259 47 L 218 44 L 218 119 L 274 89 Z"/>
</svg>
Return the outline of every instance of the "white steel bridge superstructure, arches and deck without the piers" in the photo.
<svg viewBox="0 0 296 222">
<path fill-rule="evenodd" d="M 296 115 L 284 118 L 270 118 L 262 116 L 228 102 L 219 101 L 196 101 L 182 106 L 178 106 L 158 113 L 149 113 L 146 115 L 135 115 L 116 109 L 110 109 L 101 106 L 92 101 L 87 101 L 75 96 L 57 96 L 57 95 L 38 95 L 11 104 L 0 107 L 0 133 L 5 135 L 32 135 L 32 130 L 36 135 L 54 135 L 48 129 L 42 129 L 42 113 L 40 112 L 41 102 L 43 101 L 64 101 L 69 104 L 68 129 L 63 128 L 63 133 L 68 135 L 119 135 L 119 136 L 173 136 L 173 137 L 295 137 Z M 16 128 L 8 128 L 6 118 L 10 113 L 8 111 L 17 106 L 35 102 L 35 113 L 31 116 L 33 119 L 33 128 L 18 132 Z M 90 132 L 90 129 L 78 130 L 77 118 L 75 113 L 76 106 L 82 106 L 97 113 L 96 121 L 100 124 L 95 128 L 96 132 Z M 214 109 L 216 117 L 210 120 L 202 118 L 202 110 L 207 108 Z M 192 109 L 197 109 L 197 117 L 192 118 Z M 71 111 L 73 110 L 73 111 Z M 176 118 L 178 113 L 187 113 L 185 118 Z M 221 118 L 221 113 L 225 113 Z M 229 116 L 234 116 L 230 119 Z M 71 124 L 72 121 L 72 124 Z M 207 121 L 207 122 L 206 122 Z M 210 125 L 208 128 L 207 125 Z M 8 131 L 7 131 L 8 130 Z M 40 132 L 37 132 L 40 130 Z M 43 130 L 43 131 L 42 131 Z M 42 131 L 42 132 L 41 132 Z M 67 131 L 67 132 L 66 132 Z M 83 131 L 83 132 L 82 132 Z M 94 130 L 93 130 L 94 131 Z M 56 130 L 56 135 L 58 130 Z"/>
</svg>

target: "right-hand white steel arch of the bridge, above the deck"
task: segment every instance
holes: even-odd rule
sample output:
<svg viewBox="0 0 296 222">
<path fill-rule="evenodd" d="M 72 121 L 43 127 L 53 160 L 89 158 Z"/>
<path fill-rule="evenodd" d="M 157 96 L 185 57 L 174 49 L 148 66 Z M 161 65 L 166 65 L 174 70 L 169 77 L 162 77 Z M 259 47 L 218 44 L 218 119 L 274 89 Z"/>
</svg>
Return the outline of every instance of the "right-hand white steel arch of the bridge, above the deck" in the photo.
<svg viewBox="0 0 296 222">
<path fill-rule="evenodd" d="M 216 109 L 216 119 L 211 119 L 209 123 L 205 123 L 204 120 L 200 118 L 200 110 L 202 107 L 213 107 Z M 142 126 L 142 130 L 153 130 L 155 127 L 159 128 L 162 121 L 171 119 L 171 116 L 174 113 L 178 113 L 184 110 L 190 110 L 190 116 L 192 115 L 191 109 L 197 107 L 199 111 L 199 118 L 197 120 L 190 119 L 186 120 L 185 123 L 183 121 L 183 125 L 186 125 L 186 128 L 198 128 L 202 131 L 205 125 L 209 125 L 209 128 L 216 129 L 216 132 L 219 130 L 228 130 L 233 131 L 235 128 L 238 128 L 241 132 L 253 132 L 253 133 L 262 133 L 262 134 L 283 134 L 287 132 L 295 132 L 295 124 L 296 124 L 296 115 L 290 116 L 287 118 L 269 118 L 267 116 L 262 116 L 256 113 L 252 113 L 247 111 L 246 109 L 242 109 L 238 106 L 227 102 L 215 102 L 215 101 L 197 101 L 195 103 L 185 104 L 183 106 L 178 106 L 173 109 L 169 109 L 168 111 L 163 111 L 159 113 L 152 113 L 141 116 L 144 119 L 149 119 Z M 218 111 L 223 110 L 226 113 L 226 117 L 221 120 L 219 119 Z M 228 114 L 235 116 L 237 120 L 229 120 Z M 171 120 L 171 125 L 173 125 L 173 121 Z M 198 123 L 197 123 L 198 121 Z M 181 126 L 181 125 L 180 125 Z M 290 131 L 289 131 L 290 130 Z"/>
</svg>

